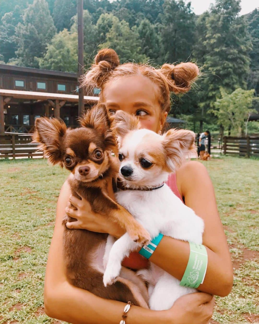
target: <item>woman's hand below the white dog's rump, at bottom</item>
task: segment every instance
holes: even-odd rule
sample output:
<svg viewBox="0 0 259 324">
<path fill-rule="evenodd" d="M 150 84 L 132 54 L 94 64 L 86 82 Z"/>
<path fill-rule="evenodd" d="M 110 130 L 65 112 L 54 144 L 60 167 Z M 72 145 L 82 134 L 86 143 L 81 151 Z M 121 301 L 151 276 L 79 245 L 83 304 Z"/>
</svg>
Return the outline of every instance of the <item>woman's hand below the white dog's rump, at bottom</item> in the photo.
<svg viewBox="0 0 259 324">
<path fill-rule="evenodd" d="M 215 298 L 205 293 L 194 293 L 180 297 L 167 310 L 168 324 L 208 324 L 212 317 Z"/>
</svg>

